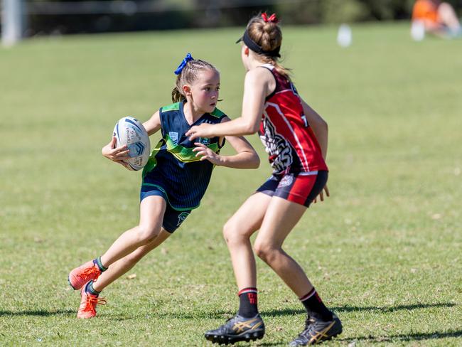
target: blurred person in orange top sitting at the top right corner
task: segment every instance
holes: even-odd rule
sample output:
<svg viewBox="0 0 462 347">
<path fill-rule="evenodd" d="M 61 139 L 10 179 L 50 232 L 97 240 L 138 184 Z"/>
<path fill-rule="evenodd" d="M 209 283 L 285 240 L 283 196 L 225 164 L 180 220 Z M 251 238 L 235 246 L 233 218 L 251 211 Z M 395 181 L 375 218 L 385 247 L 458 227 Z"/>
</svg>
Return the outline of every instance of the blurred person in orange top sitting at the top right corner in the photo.
<svg viewBox="0 0 462 347">
<path fill-rule="evenodd" d="M 461 23 L 451 4 L 439 0 L 417 0 L 412 9 L 412 23 L 421 23 L 426 33 L 444 38 L 462 36 Z"/>
</svg>

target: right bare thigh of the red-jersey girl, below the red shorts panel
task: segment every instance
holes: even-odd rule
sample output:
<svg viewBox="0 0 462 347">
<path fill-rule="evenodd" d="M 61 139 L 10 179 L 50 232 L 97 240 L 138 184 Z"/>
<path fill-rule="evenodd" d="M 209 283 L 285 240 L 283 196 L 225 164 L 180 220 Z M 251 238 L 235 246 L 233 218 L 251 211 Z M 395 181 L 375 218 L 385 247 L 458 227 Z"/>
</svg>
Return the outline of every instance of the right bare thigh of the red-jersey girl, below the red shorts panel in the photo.
<svg viewBox="0 0 462 347">
<path fill-rule="evenodd" d="M 272 197 L 255 240 L 255 247 L 281 247 L 305 211 L 305 205 L 278 196 Z"/>
</svg>

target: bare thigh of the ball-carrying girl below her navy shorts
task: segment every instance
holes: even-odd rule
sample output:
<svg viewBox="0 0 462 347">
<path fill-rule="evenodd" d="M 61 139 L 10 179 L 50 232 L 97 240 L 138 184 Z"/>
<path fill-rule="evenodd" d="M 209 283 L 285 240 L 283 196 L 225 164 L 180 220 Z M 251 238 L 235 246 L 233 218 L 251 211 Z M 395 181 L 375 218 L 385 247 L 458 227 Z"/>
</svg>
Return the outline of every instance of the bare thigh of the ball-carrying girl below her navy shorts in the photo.
<svg viewBox="0 0 462 347">
<path fill-rule="evenodd" d="M 165 211 L 166 201 L 162 196 L 146 196 L 139 204 L 139 226 L 159 233 Z"/>
</svg>

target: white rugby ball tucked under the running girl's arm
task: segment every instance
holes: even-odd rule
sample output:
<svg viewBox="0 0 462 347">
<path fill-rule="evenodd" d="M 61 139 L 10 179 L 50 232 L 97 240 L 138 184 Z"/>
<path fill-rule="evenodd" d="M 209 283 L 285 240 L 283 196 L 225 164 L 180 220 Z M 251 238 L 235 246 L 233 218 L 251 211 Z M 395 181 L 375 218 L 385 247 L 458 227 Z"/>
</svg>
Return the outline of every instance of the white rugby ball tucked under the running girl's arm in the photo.
<svg viewBox="0 0 462 347">
<path fill-rule="evenodd" d="M 123 117 L 115 124 L 116 146 L 127 144 L 129 159 L 125 160 L 129 170 L 140 170 L 146 165 L 151 153 L 151 142 L 143 124 L 134 117 Z"/>
</svg>

